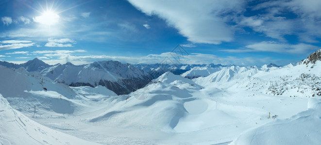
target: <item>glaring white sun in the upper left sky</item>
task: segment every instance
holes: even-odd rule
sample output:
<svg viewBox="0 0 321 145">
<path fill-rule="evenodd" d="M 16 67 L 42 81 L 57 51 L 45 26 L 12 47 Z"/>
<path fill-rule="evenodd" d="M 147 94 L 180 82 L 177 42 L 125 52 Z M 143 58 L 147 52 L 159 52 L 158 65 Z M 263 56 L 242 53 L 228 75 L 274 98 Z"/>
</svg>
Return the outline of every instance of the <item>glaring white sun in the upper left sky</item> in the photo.
<svg viewBox="0 0 321 145">
<path fill-rule="evenodd" d="M 34 21 L 44 25 L 55 25 L 59 22 L 60 16 L 51 10 L 43 12 L 40 16 L 34 17 Z"/>
</svg>

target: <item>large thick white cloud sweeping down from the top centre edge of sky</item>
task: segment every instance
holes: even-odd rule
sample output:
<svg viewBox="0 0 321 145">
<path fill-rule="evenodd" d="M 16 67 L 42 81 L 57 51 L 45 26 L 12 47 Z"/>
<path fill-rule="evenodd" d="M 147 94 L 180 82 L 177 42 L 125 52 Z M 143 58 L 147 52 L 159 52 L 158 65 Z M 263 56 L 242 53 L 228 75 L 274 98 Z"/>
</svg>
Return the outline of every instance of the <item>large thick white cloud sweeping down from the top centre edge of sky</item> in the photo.
<svg viewBox="0 0 321 145">
<path fill-rule="evenodd" d="M 128 0 L 148 15 L 158 15 L 193 43 L 220 44 L 234 32 L 222 15 L 239 11 L 242 0 Z"/>
</svg>

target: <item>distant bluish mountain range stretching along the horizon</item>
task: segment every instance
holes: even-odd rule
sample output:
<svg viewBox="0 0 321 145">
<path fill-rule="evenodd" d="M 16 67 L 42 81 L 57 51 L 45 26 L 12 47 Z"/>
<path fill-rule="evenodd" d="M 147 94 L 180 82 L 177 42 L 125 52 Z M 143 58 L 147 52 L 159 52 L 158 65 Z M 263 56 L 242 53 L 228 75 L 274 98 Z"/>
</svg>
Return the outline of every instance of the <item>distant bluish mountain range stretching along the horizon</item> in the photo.
<svg viewBox="0 0 321 145">
<path fill-rule="evenodd" d="M 49 65 L 38 58 L 26 63 L 14 64 L 0 61 L 0 65 L 18 69 L 24 67 L 28 72 L 39 72 L 58 83 L 64 83 L 70 87 L 104 86 L 118 95 L 129 94 L 144 87 L 152 79 L 163 73 L 171 72 L 192 79 L 200 76 L 208 76 L 232 65 L 221 64 L 122 64 L 118 61 L 99 61 L 84 65 L 66 64 Z M 262 66 L 266 71 L 275 64 Z"/>
</svg>

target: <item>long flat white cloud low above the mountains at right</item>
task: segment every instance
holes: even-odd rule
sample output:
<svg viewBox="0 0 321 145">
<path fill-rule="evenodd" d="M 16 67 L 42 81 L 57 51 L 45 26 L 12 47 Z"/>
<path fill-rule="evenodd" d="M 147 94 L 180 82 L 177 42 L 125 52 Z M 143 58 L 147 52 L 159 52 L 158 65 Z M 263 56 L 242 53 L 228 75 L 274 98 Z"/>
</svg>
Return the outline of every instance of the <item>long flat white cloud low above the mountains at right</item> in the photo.
<svg viewBox="0 0 321 145">
<path fill-rule="evenodd" d="M 240 49 L 224 49 L 221 51 L 244 53 L 244 52 L 275 52 L 275 53 L 288 53 L 288 54 L 300 54 L 307 53 L 310 50 L 318 50 L 320 47 L 311 44 L 299 43 L 299 44 L 287 44 L 277 42 L 260 42 L 245 46 Z"/>
</svg>

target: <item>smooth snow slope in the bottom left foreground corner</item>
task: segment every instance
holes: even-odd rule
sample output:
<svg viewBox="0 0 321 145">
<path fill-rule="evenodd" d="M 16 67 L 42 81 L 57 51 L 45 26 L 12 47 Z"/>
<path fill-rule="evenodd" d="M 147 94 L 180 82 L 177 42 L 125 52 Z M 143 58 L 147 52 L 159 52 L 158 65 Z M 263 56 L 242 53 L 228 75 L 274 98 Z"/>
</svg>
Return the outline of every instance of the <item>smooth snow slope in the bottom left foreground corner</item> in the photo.
<svg viewBox="0 0 321 145">
<path fill-rule="evenodd" d="M 13 109 L 0 94 L 1 145 L 99 145 L 45 127 Z"/>
</svg>

